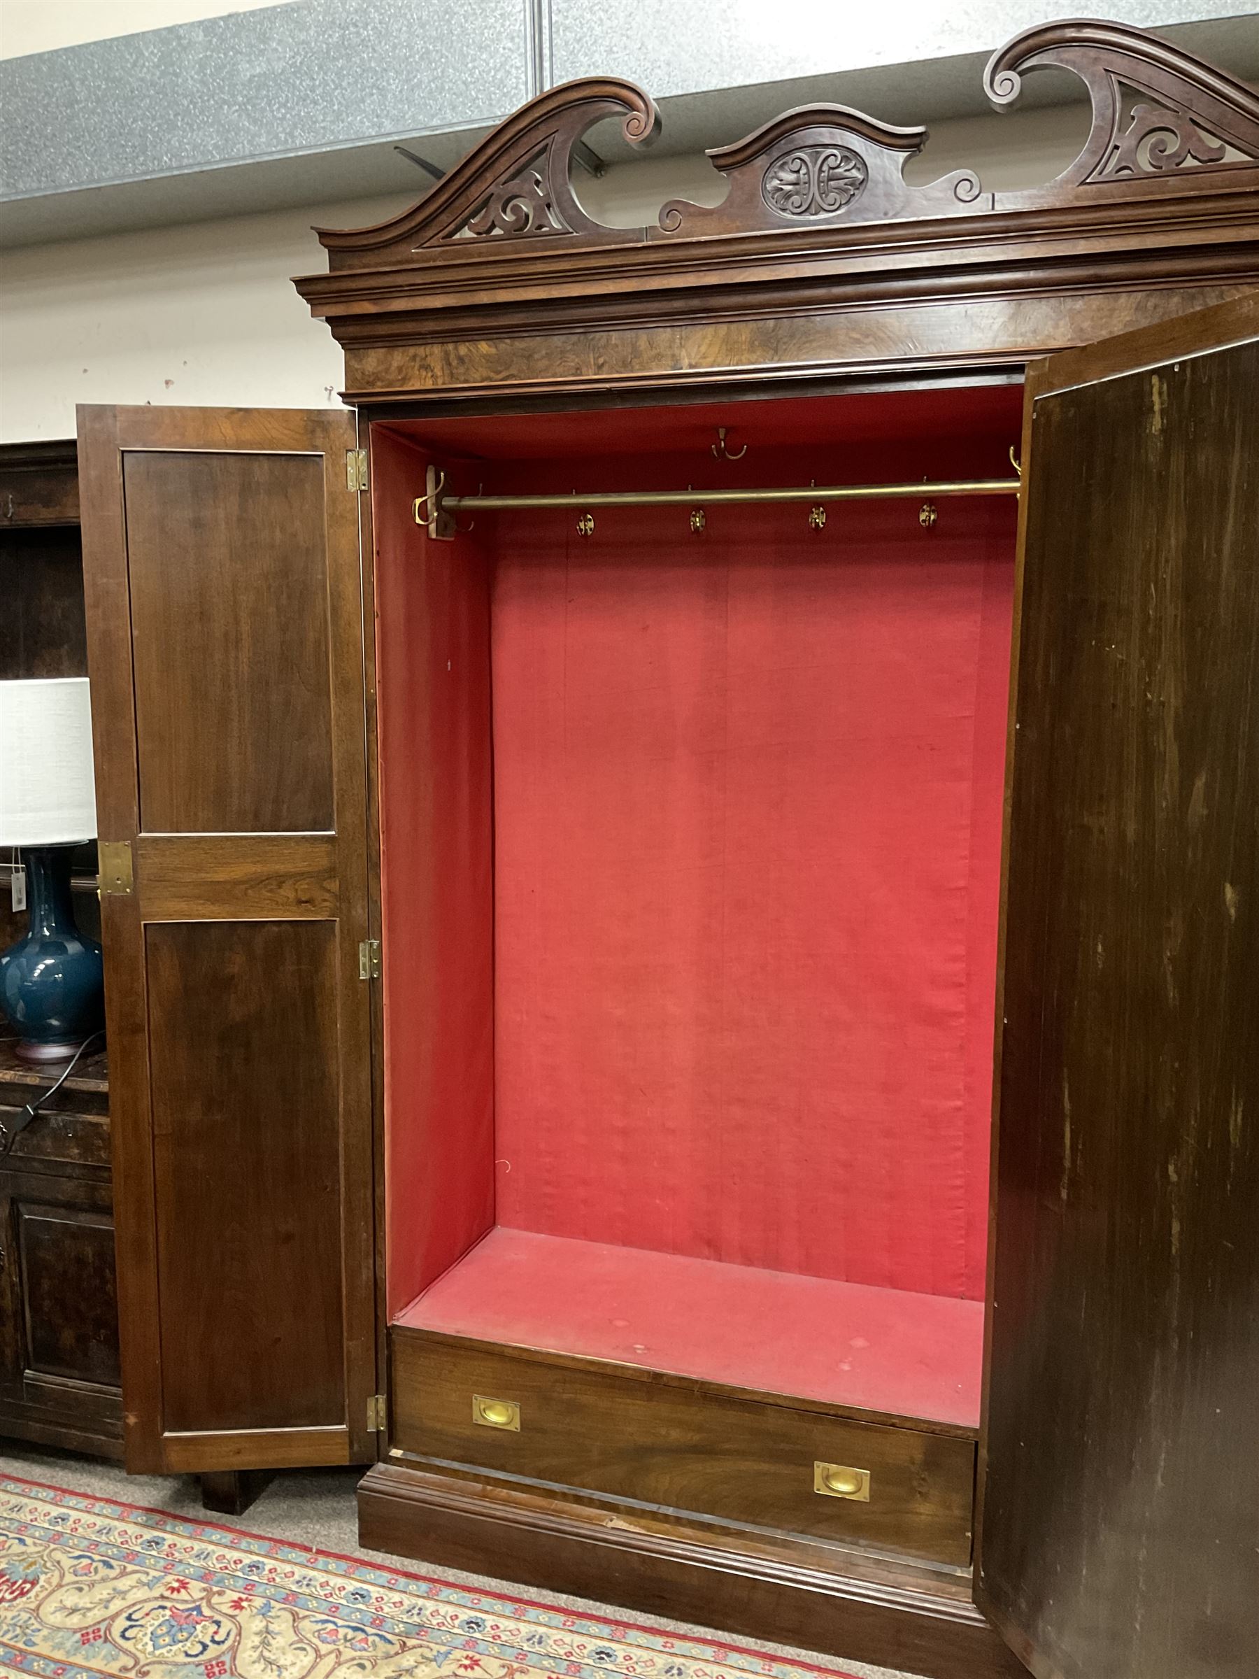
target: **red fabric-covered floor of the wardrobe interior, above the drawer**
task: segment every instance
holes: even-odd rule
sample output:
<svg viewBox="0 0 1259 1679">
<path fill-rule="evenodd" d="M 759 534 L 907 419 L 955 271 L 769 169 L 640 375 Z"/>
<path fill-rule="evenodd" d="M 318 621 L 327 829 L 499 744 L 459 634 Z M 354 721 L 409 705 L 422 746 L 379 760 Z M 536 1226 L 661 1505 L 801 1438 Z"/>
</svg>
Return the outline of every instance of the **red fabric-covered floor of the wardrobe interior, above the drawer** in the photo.
<svg viewBox="0 0 1259 1679">
<path fill-rule="evenodd" d="M 979 1427 L 974 1300 L 497 1229 L 400 1321 Z"/>
</svg>

